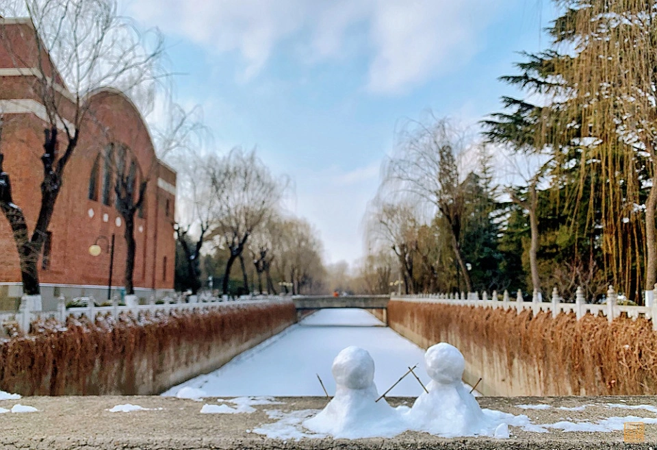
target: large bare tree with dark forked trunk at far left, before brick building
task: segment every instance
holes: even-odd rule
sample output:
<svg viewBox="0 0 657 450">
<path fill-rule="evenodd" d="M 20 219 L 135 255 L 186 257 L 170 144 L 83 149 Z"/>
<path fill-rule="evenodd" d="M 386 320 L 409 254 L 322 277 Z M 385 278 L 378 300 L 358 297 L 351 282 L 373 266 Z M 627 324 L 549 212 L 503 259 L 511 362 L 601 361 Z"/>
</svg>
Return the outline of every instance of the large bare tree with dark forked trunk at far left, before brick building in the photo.
<svg viewBox="0 0 657 450">
<path fill-rule="evenodd" d="M 144 88 L 159 76 L 162 39 L 158 33 L 150 42 L 140 36 L 118 15 L 114 0 L 5 0 L 0 16 L 29 18 L 18 24 L 0 18 L 0 40 L 44 108 L 43 180 L 31 234 L 23 210 L 14 203 L 0 148 L 0 209 L 16 242 L 23 292 L 39 295 L 38 258 L 64 184 L 64 169 L 85 124 L 94 120 L 89 114 L 92 93 L 107 86 L 127 94 Z"/>
</svg>

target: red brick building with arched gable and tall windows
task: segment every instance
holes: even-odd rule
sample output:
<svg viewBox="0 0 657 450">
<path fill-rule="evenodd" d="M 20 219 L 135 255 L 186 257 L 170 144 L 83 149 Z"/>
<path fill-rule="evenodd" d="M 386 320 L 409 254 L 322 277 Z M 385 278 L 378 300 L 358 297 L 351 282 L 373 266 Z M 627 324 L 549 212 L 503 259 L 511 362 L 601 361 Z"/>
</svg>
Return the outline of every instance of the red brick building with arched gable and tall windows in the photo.
<svg viewBox="0 0 657 450">
<path fill-rule="evenodd" d="M 10 175 L 14 203 L 23 209 L 30 232 L 38 216 L 43 166 L 45 108 L 36 95 L 34 72 L 38 47 L 29 21 L 0 18 L 0 114 L 3 117 L 1 151 L 4 171 Z M 21 53 L 16 58 L 15 53 Z M 12 54 L 14 53 L 14 54 Z M 41 55 L 48 58 L 48 55 Z M 21 64 L 17 64 L 21 61 Z M 34 65 L 32 65 L 34 64 Z M 51 78 L 64 101 L 72 101 L 60 75 Z M 68 99 L 68 100 L 66 100 Z M 146 199 L 136 216 L 137 243 L 134 286 L 147 298 L 173 289 L 175 239 L 173 217 L 176 173 L 157 160 L 149 130 L 136 106 L 116 90 L 99 90 L 86 99 L 88 117 L 80 128 L 79 142 L 64 171 L 62 190 L 39 261 L 44 309 L 53 299 L 94 295 L 107 298 L 110 267 L 108 253 L 115 235 L 112 295 L 120 294 L 125 271 L 125 224 L 116 210 L 116 166 L 110 152 L 132 155 L 141 179 L 148 179 Z M 73 104 L 73 103 L 71 103 Z M 64 105 L 66 106 L 66 105 Z M 73 108 L 71 108 L 73 110 Z M 64 135 L 64 133 L 60 133 Z M 61 136 L 60 136 L 61 137 Z M 65 145 L 64 140 L 60 147 Z M 63 148 L 63 147 L 62 147 Z M 114 155 L 116 158 L 116 155 Z M 99 236 L 104 236 L 100 238 Z M 97 243 L 103 253 L 92 256 Z M 14 309 L 22 294 L 21 272 L 8 221 L 0 216 L 0 310 Z"/>
</svg>

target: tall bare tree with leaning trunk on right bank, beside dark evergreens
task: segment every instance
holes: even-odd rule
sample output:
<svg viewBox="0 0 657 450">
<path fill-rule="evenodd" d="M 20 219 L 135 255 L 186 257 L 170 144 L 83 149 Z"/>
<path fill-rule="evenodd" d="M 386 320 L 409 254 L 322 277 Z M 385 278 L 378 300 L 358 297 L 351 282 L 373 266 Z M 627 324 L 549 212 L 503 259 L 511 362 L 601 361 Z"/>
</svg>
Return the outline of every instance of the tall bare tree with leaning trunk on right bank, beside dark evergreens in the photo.
<svg viewBox="0 0 657 450">
<path fill-rule="evenodd" d="M 459 160 L 467 149 L 467 136 L 446 119 L 432 117 L 428 125 L 411 125 L 400 134 L 396 155 L 387 162 L 383 188 L 411 195 L 439 210 L 449 224 L 452 250 L 469 292 L 472 282 L 461 251 L 467 204 Z"/>
</svg>

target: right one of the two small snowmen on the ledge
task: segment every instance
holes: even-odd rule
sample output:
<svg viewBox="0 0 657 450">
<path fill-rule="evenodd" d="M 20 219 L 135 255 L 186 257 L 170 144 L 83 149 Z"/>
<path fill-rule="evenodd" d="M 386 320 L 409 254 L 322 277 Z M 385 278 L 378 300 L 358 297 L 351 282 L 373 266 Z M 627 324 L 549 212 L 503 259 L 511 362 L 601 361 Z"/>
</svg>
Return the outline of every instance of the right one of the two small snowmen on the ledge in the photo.
<svg viewBox="0 0 657 450">
<path fill-rule="evenodd" d="M 431 382 L 407 414 L 411 428 L 442 436 L 490 434 L 489 418 L 461 382 L 465 358 L 459 349 L 440 342 L 429 347 L 424 363 Z"/>
</svg>

